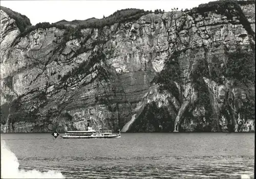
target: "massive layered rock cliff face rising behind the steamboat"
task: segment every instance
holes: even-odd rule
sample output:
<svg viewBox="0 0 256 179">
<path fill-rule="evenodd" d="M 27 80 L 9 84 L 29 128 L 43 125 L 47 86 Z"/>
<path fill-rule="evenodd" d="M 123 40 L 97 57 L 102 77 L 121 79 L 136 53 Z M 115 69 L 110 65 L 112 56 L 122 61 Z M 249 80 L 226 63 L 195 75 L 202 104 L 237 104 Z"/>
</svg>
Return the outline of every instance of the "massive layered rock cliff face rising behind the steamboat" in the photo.
<svg viewBox="0 0 256 179">
<path fill-rule="evenodd" d="M 122 132 L 254 131 L 254 8 L 147 13 L 70 36 L 58 25 L 22 33 L 1 10 L 1 132 L 88 123 Z"/>
</svg>

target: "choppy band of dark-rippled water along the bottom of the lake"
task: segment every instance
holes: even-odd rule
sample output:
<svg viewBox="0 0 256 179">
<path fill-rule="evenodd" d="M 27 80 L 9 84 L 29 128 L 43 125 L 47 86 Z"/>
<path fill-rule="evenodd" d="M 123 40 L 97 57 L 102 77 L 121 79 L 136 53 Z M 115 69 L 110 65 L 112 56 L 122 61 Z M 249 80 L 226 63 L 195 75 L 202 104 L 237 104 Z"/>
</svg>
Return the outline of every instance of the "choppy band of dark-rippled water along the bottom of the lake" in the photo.
<svg viewBox="0 0 256 179">
<path fill-rule="evenodd" d="M 22 163 L 47 161 L 50 166 L 38 170 L 59 170 L 68 178 L 238 178 L 242 174 L 253 178 L 254 167 L 254 156 L 30 157 L 19 160 Z M 140 163 L 145 160 L 147 163 Z M 110 161 L 114 161 L 112 165 Z M 24 169 L 31 167 L 24 166 Z"/>
</svg>

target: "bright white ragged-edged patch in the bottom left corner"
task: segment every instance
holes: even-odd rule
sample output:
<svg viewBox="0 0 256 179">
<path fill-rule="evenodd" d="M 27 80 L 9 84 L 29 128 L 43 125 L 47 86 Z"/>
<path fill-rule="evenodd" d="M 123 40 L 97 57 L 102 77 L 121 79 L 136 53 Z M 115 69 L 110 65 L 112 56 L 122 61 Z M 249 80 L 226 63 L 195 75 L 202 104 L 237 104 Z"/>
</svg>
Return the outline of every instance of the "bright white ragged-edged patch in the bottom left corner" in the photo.
<svg viewBox="0 0 256 179">
<path fill-rule="evenodd" d="M 1 178 L 65 178 L 61 172 L 50 170 L 40 172 L 37 170 L 20 170 L 15 154 L 1 140 Z"/>
</svg>

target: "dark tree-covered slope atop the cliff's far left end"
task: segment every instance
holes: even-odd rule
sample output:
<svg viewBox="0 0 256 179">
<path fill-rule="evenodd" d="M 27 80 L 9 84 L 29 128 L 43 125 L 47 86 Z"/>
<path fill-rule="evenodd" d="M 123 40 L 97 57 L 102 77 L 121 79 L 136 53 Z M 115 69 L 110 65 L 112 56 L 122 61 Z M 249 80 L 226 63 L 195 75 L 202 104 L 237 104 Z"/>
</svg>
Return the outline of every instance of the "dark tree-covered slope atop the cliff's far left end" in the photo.
<svg viewBox="0 0 256 179">
<path fill-rule="evenodd" d="M 1 6 L 0 9 L 3 10 L 10 18 L 15 20 L 17 27 L 21 33 L 24 32 L 27 27 L 31 26 L 30 20 L 27 16 L 12 11 L 11 9 L 3 6 Z"/>
</svg>

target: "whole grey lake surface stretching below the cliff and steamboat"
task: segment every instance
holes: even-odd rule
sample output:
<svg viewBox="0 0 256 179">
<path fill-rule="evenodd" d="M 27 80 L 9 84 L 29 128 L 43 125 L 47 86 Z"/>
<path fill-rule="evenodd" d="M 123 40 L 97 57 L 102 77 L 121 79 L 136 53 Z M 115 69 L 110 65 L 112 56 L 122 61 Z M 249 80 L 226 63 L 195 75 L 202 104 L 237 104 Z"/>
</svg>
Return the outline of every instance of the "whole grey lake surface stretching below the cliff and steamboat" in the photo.
<svg viewBox="0 0 256 179">
<path fill-rule="evenodd" d="M 54 170 L 66 178 L 239 178 L 243 174 L 253 178 L 254 174 L 254 133 L 125 133 L 120 139 L 73 140 L 51 134 L 1 134 L 1 140 L 25 175 L 31 170 Z"/>
</svg>

